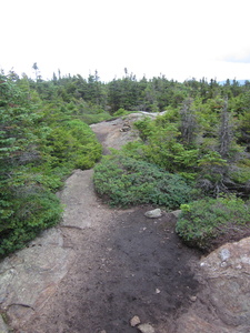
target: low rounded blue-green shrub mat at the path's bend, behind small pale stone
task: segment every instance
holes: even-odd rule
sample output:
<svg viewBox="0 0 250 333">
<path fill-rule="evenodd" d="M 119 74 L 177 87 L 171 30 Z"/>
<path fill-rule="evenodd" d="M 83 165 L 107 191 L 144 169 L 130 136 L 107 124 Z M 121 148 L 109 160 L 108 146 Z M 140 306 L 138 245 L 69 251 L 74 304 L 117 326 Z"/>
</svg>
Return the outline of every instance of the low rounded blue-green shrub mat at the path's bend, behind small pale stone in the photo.
<svg viewBox="0 0 250 333">
<path fill-rule="evenodd" d="M 120 206 L 151 203 L 173 210 L 194 195 L 180 175 L 119 154 L 94 168 L 94 186 L 111 205 Z"/>
</svg>

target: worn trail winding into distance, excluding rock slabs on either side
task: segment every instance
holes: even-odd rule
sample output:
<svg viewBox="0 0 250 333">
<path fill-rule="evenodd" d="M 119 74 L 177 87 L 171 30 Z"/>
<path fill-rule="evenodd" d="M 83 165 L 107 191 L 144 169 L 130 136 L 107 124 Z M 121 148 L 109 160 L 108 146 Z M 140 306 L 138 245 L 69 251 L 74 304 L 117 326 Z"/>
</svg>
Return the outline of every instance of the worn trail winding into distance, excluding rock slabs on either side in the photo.
<svg viewBox="0 0 250 333">
<path fill-rule="evenodd" d="M 110 127 L 94 125 L 103 147 Z M 66 212 L 63 248 L 74 261 L 57 291 L 17 329 L 19 333 L 129 333 L 139 315 L 156 332 L 176 332 L 174 320 L 187 312 L 199 290 L 191 265 L 199 252 L 183 246 L 174 233 L 176 216 L 148 219 L 151 206 L 111 210 L 97 198 L 92 171 L 76 171 L 60 193 Z"/>
</svg>

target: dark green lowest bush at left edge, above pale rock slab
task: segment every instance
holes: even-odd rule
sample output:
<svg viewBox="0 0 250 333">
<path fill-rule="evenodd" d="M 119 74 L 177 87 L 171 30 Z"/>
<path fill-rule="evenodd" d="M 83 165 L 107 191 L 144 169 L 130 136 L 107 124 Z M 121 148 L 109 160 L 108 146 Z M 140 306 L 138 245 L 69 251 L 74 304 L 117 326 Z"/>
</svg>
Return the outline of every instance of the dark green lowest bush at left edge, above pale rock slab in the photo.
<svg viewBox="0 0 250 333">
<path fill-rule="evenodd" d="M 61 218 L 62 208 L 56 194 L 27 188 L 19 191 L 21 195 L 12 196 L 8 206 L 9 214 L 1 214 L 0 258 L 22 249 L 40 231 L 56 225 Z"/>
</svg>

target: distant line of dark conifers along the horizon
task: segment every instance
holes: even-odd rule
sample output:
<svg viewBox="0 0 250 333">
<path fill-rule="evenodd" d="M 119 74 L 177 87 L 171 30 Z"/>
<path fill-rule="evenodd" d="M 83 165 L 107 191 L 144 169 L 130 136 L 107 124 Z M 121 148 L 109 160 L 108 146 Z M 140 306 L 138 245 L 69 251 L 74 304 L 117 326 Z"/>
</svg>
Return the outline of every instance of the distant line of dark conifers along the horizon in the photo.
<svg viewBox="0 0 250 333">
<path fill-rule="evenodd" d="M 54 99 L 57 95 L 62 101 L 84 101 L 98 105 L 111 114 L 120 108 L 128 111 L 163 111 L 167 107 L 177 108 L 186 98 L 200 98 L 202 102 L 217 97 L 237 98 L 250 90 L 250 81 L 244 84 L 237 80 L 226 80 L 223 84 L 211 79 L 187 80 L 180 83 L 168 80 L 164 75 L 140 80 L 124 69 L 122 79 L 113 79 L 104 83 L 98 72 L 87 79 L 80 74 L 61 77 L 53 73 L 52 80 L 43 81 L 38 75 L 37 81 L 28 79 L 31 87 L 42 98 Z"/>
</svg>

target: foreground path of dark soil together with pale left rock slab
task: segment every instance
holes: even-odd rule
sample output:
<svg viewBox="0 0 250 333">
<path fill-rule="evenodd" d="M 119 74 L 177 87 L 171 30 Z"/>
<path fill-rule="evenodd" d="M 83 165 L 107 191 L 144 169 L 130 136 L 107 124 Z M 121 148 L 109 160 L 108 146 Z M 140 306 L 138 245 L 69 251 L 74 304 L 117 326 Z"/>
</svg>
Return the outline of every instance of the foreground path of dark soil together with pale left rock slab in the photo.
<svg viewBox="0 0 250 333">
<path fill-rule="evenodd" d="M 134 332 L 133 315 L 169 326 L 199 286 L 188 265 L 197 253 L 183 251 L 174 215 L 110 210 L 94 194 L 92 171 L 76 171 L 60 196 L 61 225 L 6 262 L 3 306 L 16 332 Z"/>
</svg>

